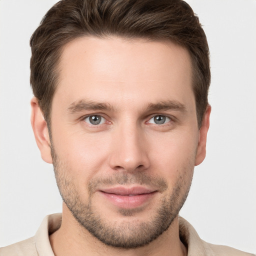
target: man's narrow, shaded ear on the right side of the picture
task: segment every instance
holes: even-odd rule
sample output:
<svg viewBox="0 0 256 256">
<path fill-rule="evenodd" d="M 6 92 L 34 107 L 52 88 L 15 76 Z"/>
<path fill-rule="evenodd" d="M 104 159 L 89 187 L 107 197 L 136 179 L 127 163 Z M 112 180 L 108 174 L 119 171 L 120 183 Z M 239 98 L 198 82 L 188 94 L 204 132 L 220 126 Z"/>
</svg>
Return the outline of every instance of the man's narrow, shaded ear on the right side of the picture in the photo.
<svg viewBox="0 0 256 256">
<path fill-rule="evenodd" d="M 206 138 L 207 138 L 207 132 L 210 124 L 210 120 L 209 120 L 210 111 L 211 111 L 211 106 L 208 105 L 203 115 L 201 128 L 199 130 L 197 153 L 196 153 L 194 165 L 200 164 L 204 160 L 206 155 Z"/>
</svg>

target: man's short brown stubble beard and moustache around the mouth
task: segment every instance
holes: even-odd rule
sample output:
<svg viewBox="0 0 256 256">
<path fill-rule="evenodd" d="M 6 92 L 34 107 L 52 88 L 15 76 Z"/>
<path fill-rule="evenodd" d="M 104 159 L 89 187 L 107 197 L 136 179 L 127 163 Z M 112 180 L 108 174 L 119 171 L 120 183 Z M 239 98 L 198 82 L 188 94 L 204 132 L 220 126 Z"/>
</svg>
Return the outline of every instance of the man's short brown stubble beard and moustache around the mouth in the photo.
<svg viewBox="0 0 256 256">
<path fill-rule="evenodd" d="M 95 178 L 90 180 L 88 185 L 88 200 L 84 202 L 79 196 L 74 180 L 67 176 L 68 168 L 59 159 L 51 146 L 54 173 L 60 195 L 80 226 L 87 229 L 93 236 L 106 245 L 123 249 L 138 248 L 144 246 L 159 237 L 172 223 L 174 218 L 184 204 L 193 173 L 193 166 L 185 172 L 190 172 L 190 179 L 187 181 L 181 175 L 170 193 L 165 179 L 150 176 L 147 173 L 116 172 L 107 178 Z M 69 172 L 71 173 L 71 172 Z M 181 172 L 184 174 L 184 172 Z M 92 205 L 93 192 L 99 184 L 146 184 L 158 185 L 159 190 L 164 193 L 155 207 L 155 213 L 150 220 L 136 221 L 134 216 L 139 209 L 119 209 L 119 214 L 126 217 L 121 223 L 113 219 L 104 219 L 100 212 L 97 212 Z M 185 188 L 185 189 L 184 189 Z M 133 220 L 130 217 L 133 217 Z"/>
</svg>

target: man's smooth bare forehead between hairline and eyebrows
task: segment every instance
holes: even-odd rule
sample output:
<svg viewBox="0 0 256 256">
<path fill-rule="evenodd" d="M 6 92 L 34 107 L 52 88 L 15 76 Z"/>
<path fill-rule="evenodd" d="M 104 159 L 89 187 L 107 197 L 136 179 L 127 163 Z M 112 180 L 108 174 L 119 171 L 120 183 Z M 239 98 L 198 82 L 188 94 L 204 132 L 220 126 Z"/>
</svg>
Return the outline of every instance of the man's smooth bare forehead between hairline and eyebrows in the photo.
<svg viewBox="0 0 256 256">
<path fill-rule="evenodd" d="M 119 105 L 193 98 L 189 53 L 170 41 L 81 37 L 65 45 L 59 70 L 53 104 L 55 97 Z"/>
</svg>

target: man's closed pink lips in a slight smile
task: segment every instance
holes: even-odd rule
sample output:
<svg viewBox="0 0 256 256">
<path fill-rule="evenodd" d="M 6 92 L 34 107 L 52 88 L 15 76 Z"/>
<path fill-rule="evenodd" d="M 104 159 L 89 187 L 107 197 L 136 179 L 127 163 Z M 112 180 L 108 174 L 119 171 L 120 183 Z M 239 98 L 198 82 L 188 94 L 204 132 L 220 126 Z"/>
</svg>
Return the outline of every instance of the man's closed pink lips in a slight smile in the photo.
<svg viewBox="0 0 256 256">
<path fill-rule="evenodd" d="M 110 203 L 120 208 L 132 209 L 150 201 L 157 190 L 146 187 L 111 187 L 99 190 Z"/>
</svg>

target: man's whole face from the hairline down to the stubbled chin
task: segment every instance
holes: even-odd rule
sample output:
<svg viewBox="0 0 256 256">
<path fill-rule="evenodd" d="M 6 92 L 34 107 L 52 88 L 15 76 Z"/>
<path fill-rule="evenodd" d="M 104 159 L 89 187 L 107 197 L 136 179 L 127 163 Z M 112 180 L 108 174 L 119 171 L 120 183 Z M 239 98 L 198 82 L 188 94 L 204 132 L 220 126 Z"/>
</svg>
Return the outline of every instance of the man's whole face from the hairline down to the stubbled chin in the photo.
<svg viewBox="0 0 256 256">
<path fill-rule="evenodd" d="M 59 67 L 50 144 L 65 207 L 105 244 L 149 243 L 177 216 L 204 157 L 188 52 L 83 37 Z"/>
</svg>

